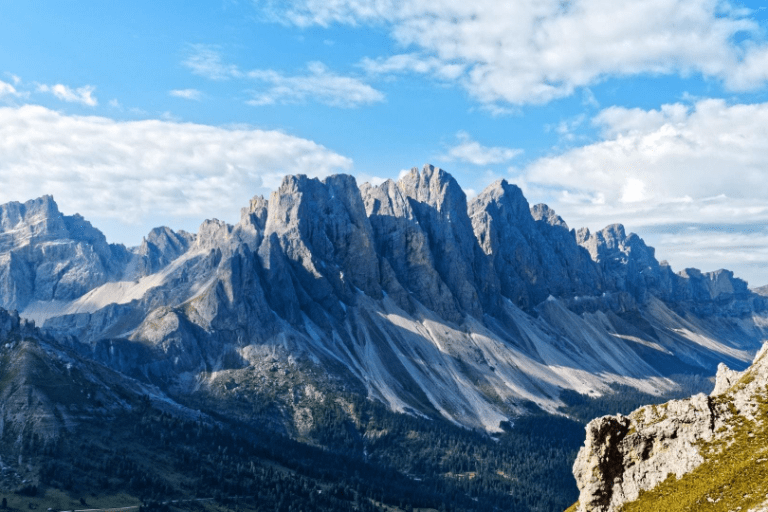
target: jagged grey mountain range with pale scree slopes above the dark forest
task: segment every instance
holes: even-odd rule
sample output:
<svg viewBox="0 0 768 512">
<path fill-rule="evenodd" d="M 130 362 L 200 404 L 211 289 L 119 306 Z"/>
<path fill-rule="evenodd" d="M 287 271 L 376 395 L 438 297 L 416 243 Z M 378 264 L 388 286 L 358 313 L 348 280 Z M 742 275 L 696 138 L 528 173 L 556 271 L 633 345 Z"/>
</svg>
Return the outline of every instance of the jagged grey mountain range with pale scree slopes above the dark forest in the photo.
<svg viewBox="0 0 768 512">
<path fill-rule="evenodd" d="M 311 386 L 495 431 L 563 389 L 743 368 L 768 331 L 730 272 L 675 274 L 621 226 L 572 230 L 503 180 L 468 202 L 433 166 L 378 186 L 287 176 L 236 225 L 130 249 L 50 197 L 0 207 L 0 228 L 0 305 L 175 396 L 231 378 L 283 411 Z"/>
</svg>

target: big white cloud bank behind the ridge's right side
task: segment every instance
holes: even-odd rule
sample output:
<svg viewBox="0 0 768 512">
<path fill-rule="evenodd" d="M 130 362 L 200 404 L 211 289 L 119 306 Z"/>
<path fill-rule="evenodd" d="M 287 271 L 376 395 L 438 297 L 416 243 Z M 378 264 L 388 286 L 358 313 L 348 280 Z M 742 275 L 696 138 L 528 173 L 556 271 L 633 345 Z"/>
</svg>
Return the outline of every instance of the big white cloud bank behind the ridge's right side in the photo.
<svg viewBox="0 0 768 512">
<path fill-rule="evenodd" d="M 511 169 L 571 227 L 621 222 L 676 270 L 726 266 L 768 283 L 768 103 L 611 107 L 602 140 Z"/>
</svg>

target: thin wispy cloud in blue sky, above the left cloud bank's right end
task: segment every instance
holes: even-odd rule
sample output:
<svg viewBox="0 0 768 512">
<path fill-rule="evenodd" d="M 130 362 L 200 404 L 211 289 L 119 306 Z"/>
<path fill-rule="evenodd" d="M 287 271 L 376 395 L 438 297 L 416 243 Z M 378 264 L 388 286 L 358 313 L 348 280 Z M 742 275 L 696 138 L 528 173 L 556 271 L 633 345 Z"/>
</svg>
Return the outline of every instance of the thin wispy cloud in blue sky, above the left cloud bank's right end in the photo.
<svg viewBox="0 0 768 512">
<path fill-rule="evenodd" d="M 250 105 L 304 103 L 314 99 L 332 107 L 351 108 L 384 100 L 384 94 L 361 80 L 329 71 L 320 62 L 310 62 L 307 74 L 286 76 L 271 69 L 253 70 L 248 77 L 267 85 L 255 91 Z"/>
</svg>

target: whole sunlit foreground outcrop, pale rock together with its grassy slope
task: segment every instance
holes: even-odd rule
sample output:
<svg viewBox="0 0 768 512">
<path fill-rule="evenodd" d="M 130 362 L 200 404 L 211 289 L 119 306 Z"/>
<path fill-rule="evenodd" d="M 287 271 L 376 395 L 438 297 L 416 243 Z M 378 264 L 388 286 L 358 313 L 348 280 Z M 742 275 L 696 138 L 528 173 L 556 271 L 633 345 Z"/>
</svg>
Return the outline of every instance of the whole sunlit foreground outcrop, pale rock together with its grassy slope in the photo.
<svg viewBox="0 0 768 512">
<path fill-rule="evenodd" d="M 743 372 L 720 365 L 709 396 L 587 425 L 573 466 L 584 512 L 765 510 L 768 344 Z"/>
</svg>

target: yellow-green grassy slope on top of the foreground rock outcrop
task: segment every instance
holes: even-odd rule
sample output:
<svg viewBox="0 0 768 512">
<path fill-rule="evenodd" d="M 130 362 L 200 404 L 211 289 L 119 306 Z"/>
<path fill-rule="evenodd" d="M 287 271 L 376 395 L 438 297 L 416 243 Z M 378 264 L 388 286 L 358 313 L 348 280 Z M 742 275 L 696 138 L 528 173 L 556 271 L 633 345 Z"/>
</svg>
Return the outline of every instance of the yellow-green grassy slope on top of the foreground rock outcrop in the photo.
<svg viewBox="0 0 768 512">
<path fill-rule="evenodd" d="M 768 495 L 768 387 L 756 397 L 757 421 L 734 416 L 719 438 L 700 443 L 705 462 L 679 480 L 674 475 L 627 503 L 634 511 L 748 510 Z M 732 404 L 731 404 L 732 405 Z"/>
</svg>

